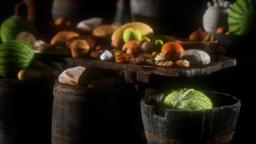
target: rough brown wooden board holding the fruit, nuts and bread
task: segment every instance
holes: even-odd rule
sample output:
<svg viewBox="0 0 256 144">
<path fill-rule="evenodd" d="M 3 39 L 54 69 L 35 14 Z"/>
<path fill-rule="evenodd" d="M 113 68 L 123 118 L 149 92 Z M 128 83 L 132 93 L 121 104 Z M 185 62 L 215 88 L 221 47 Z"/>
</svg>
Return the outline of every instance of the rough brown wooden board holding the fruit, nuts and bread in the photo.
<svg viewBox="0 0 256 144">
<path fill-rule="evenodd" d="M 236 65 L 236 59 L 225 57 L 223 61 L 211 62 L 210 64 L 203 65 L 201 67 L 159 67 L 152 65 L 133 65 L 107 61 L 96 61 L 94 59 L 75 59 L 65 58 L 65 61 L 69 65 L 80 65 L 84 67 L 96 67 L 102 69 L 123 70 L 126 82 L 134 82 L 132 75 L 136 74 L 137 81 L 149 82 L 149 75 L 163 75 L 163 76 L 185 76 L 193 77 L 200 75 L 208 75 L 216 71 L 234 67 Z"/>
</svg>

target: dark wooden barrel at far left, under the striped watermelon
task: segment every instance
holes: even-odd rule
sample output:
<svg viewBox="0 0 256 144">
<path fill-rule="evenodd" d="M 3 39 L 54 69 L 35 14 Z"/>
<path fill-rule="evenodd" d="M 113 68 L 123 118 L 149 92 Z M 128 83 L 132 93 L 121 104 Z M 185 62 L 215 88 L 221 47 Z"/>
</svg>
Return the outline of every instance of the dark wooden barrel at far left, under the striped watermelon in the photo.
<svg viewBox="0 0 256 144">
<path fill-rule="evenodd" d="M 0 79 L 1 144 L 51 142 L 53 85 L 51 80 Z"/>
</svg>

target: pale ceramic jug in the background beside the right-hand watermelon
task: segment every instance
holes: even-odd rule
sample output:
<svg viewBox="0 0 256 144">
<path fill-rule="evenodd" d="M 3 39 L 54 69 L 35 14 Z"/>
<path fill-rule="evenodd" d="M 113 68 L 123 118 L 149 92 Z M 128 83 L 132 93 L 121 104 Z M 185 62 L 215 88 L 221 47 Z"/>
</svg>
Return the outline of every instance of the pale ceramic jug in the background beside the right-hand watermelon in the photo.
<svg viewBox="0 0 256 144">
<path fill-rule="evenodd" d="M 208 1 L 208 9 L 203 14 L 203 28 L 206 32 L 214 31 L 218 27 L 228 27 L 228 15 L 231 3 L 225 0 L 213 0 L 213 3 Z"/>
</svg>

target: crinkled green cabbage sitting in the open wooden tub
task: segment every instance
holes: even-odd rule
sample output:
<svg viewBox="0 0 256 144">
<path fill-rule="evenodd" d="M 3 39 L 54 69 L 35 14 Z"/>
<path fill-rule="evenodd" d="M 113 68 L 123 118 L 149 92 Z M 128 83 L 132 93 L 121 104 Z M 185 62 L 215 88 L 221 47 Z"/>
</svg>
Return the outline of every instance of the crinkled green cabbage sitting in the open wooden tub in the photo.
<svg viewBox="0 0 256 144">
<path fill-rule="evenodd" d="M 203 110 L 212 109 L 211 100 L 202 92 L 195 89 L 177 89 L 171 91 L 162 99 L 159 105 L 159 114 L 164 115 L 165 109 Z"/>
</svg>

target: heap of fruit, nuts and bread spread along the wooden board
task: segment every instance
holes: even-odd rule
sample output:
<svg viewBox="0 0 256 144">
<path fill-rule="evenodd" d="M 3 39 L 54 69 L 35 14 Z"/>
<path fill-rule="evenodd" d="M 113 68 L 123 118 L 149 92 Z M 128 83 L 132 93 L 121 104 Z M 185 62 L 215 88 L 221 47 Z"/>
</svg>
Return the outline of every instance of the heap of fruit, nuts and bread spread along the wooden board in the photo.
<svg viewBox="0 0 256 144">
<path fill-rule="evenodd" d="M 101 26 L 101 33 L 109 32 L 107 28 L 102 27 L 104 26 Z M 95 31 L 98 31 L 97 27 L 94 29 Z M 210 33 L 206 33 L 199 28 L 191 33 L 188 39 L 191 42 L 207 43 L 211 51 L 207 51 L 207 47 L 205 47 L 205 51 L 184 49 L 183 44 L 178 43 L 174 37 L 154 35 L 153 29 L 142 22 L 125 23 L 112 32 L 110 36 L 101 37 L 100 40 L 98 40 L 96 33 L 93 33 L 92 36 L 95 38 L 91 37 L 91 39 L 95 40 L 94 44 L 96 45 L 92 47 L 86 44 L 86 39 L 81 37 L 72 41 L 67 40 L 69 43 L 67 46 L 71 49 L 73 58 L 94 58 L 100 61 L 161 67 L 206 65 L 210 63 L 211 56 L 213 56 L 208 55 L 207 52 L 219 54 L 218 49 L 216 49 L 218 44 L 210 46 L 213 43 L 213 29 Z M 214 51 L 212 51 L 213 48 Z"/>
</svg>

